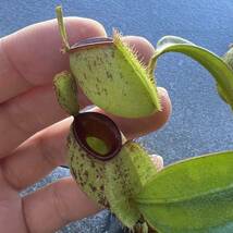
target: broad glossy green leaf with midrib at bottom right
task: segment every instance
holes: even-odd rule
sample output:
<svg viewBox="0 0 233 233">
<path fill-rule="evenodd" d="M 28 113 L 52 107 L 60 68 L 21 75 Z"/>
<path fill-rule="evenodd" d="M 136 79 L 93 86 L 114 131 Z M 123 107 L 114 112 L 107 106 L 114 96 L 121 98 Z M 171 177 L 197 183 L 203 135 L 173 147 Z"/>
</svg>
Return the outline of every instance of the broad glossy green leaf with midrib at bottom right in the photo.
<svg viewBox="0 0 233 233">
<path fill-rule="evenodd" d="M 167 167 L 154 175 L 135 201 L 159 232 L 233 232 L 233 151 Z"/>
</svg>

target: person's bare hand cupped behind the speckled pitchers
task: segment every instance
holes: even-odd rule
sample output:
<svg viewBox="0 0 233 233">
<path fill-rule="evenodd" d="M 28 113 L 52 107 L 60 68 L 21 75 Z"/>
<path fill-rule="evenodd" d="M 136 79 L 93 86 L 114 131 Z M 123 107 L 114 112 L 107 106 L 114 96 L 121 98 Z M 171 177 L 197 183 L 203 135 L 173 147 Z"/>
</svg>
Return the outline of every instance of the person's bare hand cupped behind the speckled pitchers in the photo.
<svg viewBox="0 0 233 233">
<path fill-rule="evenodd" d="M 106 36 L 97 22 L 65 19 L 70 44 Z M 124 38 L 134 45 L 144 62 L 154 53 L 142 37 Z M 59 107 L 53 76 L 69 69 L 62 56 L 57 22 L 28 26 L 0 39 L 0 229 L 13 233 L 48 233 L 70 221 L 99 211 L 72 177 L 61 179 L 21 198 L 19 192 L 65 163 L 65 142 L 72 118 Z M 127 138 L 156 131 L 169 119 L 171 102 L 159 88 L 162 111 L 146 119 L 112 116 Z M 82 108 L 90 102 L 79 91 Z M 95 108 L 93 111 L 102 112 Z M 56 124 L 54 124 L 56 123 Z M 156 159 L 158 160 L 158 158 Z M 161 160 L 156 161 L 161 167 Z"/>
</svg>

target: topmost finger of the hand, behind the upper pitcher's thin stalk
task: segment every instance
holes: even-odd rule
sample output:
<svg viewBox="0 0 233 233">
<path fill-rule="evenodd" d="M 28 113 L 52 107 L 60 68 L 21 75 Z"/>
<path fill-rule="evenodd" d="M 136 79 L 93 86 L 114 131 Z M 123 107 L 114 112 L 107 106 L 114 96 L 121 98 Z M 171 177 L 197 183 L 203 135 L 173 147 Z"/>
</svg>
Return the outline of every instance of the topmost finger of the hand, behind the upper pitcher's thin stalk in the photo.
<svg viewBox="0 0 233 233">
<path fill-rule="evenodd" d="M 70 44 L 106 36 L 101 24 L 89 19 L 66 17 Z M 38 23 L 0 39 L 0 103 L 26 90 L 52 82 L 69 69 L 68 56 L 61 54 L 56 20 Z"/>
</svg>

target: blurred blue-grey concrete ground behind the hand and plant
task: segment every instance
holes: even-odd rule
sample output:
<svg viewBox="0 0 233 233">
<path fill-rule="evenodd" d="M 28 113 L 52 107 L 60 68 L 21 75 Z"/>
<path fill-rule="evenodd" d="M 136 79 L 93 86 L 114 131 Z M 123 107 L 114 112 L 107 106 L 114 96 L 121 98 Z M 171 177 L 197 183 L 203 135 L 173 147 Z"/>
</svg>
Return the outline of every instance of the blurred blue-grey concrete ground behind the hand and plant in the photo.
<svg viewBox="0 0 233 233">
<path fill-rule="evenodd" d="M 95 19 L 109 34 L 116 27 L 124 35 L 144 36 L 152 45 L 164 35 L 176 35 L 223 54 L 233 42 L 232 0 L 1 0 L 0 36 L 54 17 L 54 8 L 60 3 L 65 15 Z M 170 93 L 173 113 L 165 127 L 139 138 L 150 152 L 163 156 L 168 164 L 232 149 L 232 112 L 216 95 L 207 71 L 181 54 L 170 53 L 159 60 L 156 76 L 158 85 Z M 57 170 L 44 183 L 62 175 L 68 172 Z M 121 232 L 120 229 L 114 218 L 103 211 L 60 232 Z"/>
</svg>

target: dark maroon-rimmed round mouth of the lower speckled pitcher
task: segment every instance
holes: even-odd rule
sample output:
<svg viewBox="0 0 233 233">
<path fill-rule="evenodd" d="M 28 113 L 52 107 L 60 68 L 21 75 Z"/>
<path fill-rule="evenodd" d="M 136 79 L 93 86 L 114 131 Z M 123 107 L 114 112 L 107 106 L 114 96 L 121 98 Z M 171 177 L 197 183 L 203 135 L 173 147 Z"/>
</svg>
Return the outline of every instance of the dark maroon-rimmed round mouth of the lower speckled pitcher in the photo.
<svg viewBox="0 0 233 233">
<path fill-rule="evenodd" d="M 95 159 L 108 161 L 122 148 L 122 136 L 116 124 L 98 112 L 83 112 L 74 116 L 73 134 L 77 144 Z"/>
</svg>

